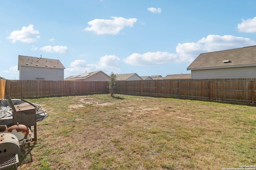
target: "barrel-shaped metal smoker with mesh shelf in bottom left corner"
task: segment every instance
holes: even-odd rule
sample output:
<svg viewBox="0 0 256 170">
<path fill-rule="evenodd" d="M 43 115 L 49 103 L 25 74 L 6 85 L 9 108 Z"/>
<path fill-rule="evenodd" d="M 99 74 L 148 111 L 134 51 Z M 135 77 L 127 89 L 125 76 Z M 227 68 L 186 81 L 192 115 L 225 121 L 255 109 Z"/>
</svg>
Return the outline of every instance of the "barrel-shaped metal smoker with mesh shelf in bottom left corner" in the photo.
<svg viewBox="0 0 256 170">
<path fill-rule="evenodd" d="M 14 166 L 17 170 L 20 145 L 17 137 L 12 133 L 2 133 L 0 136 L 0 169 Z"/>
</svg>

